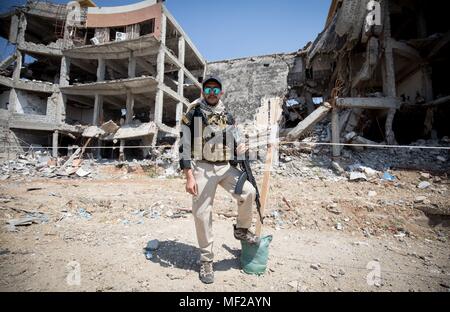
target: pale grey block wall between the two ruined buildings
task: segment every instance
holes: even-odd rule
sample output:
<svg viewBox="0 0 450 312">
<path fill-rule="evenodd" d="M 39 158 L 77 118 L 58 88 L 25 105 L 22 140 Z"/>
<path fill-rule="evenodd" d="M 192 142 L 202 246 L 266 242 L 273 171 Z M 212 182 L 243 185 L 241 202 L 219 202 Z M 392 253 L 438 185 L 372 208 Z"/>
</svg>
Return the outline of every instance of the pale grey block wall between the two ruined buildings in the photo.
<svg viewBox="0 0 450 312">
<path fill-rule="evenodd" d="M 238 122 L 253 121 L 264 97 L 284 96 L 294 54 L 275 54 L 208 64 L 207 76 L 222 80 L 223 101 Z"/>
</svg>

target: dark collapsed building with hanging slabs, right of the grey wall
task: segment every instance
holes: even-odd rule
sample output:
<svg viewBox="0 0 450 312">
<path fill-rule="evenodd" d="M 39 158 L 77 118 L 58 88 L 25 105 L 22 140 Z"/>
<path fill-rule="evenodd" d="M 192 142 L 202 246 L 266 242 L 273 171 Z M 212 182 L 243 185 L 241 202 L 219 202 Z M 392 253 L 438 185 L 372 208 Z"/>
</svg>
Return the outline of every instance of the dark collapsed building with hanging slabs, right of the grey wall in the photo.
<svg viewBox="0 0 450 312">
<path fill-rule="evenodd" d="M 289 84 L 321 107 L 293 129 L 299 138 L 332 112 L 334 143 L 402 144 L 450 135 L 450 27 L 420 0 L 333 0 L 324 31 L 299 51 Z M 309 124 L 308 124 L 309 123 Z M 340 155 L 340 147 L 333 148 Z"/>
</svg>

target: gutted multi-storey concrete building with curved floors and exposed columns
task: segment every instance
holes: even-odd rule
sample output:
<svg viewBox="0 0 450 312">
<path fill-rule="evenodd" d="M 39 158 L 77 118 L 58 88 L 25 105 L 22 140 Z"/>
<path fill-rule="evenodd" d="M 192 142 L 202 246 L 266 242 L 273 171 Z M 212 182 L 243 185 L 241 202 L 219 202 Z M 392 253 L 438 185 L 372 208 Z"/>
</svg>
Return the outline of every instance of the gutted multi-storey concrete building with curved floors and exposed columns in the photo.
<svg viewBox="0 0 450 312">
<path fill-rule="evenodd" d="M 142 158 L 146 149 L 124 146 L 173 144 L 200 95 L 205 60 L 159 0 L 28 1 L 1 15 L 0 29 L 15 45 L 0 64 L 4 153 L 38 145 L 64 155 L 93 138 L 97 156 Z"/>
</svg>

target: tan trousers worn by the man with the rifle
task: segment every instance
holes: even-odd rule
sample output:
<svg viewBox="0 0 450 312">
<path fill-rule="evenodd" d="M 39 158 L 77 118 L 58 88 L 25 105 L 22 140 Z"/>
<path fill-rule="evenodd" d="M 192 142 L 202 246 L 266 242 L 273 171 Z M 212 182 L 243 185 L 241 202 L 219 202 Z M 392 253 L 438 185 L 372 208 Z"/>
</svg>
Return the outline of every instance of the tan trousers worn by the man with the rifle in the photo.
<svg viewBox="0 0 450 312">
<path fill-rule="evenodd" d="M 252 205 L 256 191 L 251 183 L 245 182 L 242 195 L 234 193 L 240 171 L 228 163 L 214 164 L 205 161 L 192 162 L 193 173 L 198 186 L 198 195 L 193 197 L 192 213 L 200 247 L 200 261 L 214 259 L 212 209 L 217 185 L 222 186 L 237 200 L 237 227 L 248 229 L 252 224 Z"/>
</svg>

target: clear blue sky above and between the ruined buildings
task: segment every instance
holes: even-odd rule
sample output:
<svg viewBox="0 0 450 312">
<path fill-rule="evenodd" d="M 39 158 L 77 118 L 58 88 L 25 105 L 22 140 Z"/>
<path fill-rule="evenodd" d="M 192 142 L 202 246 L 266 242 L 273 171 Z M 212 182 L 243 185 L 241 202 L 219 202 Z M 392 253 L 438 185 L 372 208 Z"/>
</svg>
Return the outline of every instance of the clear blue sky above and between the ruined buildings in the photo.
<svg viewBox="0 0 450 312">
<path fill-rule="evenodd" d="M 95 1 L 95 0 L 94 0 Z M 0 11 L 24 4 L 3 0 Z M 66 0 L 53 0 L 67 3 Z M 97 0 L 119 6 L 139 0 Z M 294 52 L 323 30 L 331 0 L 167 0 L 174 15 L 208 61 Z M 11 51 L 0 40 L 2 59 Z"/>
</svg>

